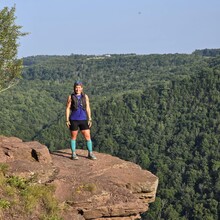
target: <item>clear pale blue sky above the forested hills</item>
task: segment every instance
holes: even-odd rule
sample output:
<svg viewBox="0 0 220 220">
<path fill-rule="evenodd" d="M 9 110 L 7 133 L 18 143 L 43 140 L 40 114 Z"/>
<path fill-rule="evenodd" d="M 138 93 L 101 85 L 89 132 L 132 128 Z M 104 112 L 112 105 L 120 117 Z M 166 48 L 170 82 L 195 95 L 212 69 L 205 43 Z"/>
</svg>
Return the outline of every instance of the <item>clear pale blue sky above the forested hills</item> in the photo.
<svg viewBox="0 0 220 220">
<path fill-rule="evenodd" d="M 18 58 L 220 48 L 220 0 L 0 0 L 15 6 Z"/>
</svg>

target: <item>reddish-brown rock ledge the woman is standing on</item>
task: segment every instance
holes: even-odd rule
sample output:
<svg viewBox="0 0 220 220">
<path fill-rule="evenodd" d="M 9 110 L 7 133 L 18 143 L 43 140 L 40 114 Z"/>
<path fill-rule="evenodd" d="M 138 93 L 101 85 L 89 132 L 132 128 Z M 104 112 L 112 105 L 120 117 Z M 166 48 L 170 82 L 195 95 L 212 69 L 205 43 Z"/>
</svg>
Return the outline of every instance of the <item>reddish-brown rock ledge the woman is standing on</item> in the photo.
<svg viewBox="0 0 220 220">
<path fill-rule="evenodd" d="M 24 178 L 37 176 L 41 184 L 55 185 L 55 197 L 68 204 L 63 219 L 134 220 L 155 200 L 158 178 L 140 166 L 111 155 L 97 153 L 89 160 L 86 150 L 53 153 L 39 142 L 0 137 L 0 163 L 9 173 Z M 18 218 L 19 219 L 19 218 Z"/>
</svg>

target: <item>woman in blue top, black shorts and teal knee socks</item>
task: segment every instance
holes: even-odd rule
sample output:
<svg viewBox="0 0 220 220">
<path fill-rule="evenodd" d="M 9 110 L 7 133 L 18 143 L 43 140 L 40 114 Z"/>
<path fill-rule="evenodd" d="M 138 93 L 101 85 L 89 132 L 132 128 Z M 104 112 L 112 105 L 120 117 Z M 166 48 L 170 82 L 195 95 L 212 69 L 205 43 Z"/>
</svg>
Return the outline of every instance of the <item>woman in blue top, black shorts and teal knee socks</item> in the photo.
<svg viewBox="0 0 220 220">
<path fill-rule="evenodd" d="M 86 139 L 88 158 L 96 160 L 92 153 L 92 141 L 90 128 L 92 126 L 89 97 L 83 93 L 83 84 L 80 81 L 74 83 L 74 92 L 68 97 L 66 104 L 66 125 L 71 132 L 72 159 L 78 160 L 76 155 L 76 138 L 80 129 Z"/>
</svg>

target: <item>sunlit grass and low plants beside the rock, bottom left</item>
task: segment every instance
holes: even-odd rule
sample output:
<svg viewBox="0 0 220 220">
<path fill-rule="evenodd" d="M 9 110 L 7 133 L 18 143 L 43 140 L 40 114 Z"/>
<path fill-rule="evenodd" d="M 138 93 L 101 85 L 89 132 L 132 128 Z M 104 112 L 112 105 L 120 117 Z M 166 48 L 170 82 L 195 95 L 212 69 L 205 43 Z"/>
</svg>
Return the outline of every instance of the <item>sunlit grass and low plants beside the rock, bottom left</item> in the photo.
<svg viewBox="0 0 220 220">
<path fill-rule="evenodd" d="M 7 165 L 0 164 L 1 215 L 7 209 L 11 213 L 23 213 L 24 216 L 38 213 L 40 220 L 62 220 L 62 208 L 54 197 L 53 185 L 37 184 L 30 179 L 8 176 L 7 170 Z"/>
</svg>

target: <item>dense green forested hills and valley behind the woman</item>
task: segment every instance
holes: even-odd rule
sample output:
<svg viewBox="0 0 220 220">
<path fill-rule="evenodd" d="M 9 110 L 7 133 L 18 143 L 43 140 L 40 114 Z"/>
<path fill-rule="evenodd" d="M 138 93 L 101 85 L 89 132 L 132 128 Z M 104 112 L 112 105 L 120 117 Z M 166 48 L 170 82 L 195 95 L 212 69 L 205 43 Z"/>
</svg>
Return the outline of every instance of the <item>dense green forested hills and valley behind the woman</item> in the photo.
<svg viewBox="0 0 220 220">
<path fill-rule="evenodd" d="M 92 108 L 94 150 L 159 177 L 143 219 L 210 219 L 220 212 L 219 50 L 191 55 L 36 56 L 0 95 L 0 134 L 69 147 L 65 102 L 76 79 Z M 211 56 L 211 55 L 213 56 Z M 85 149 L 79 136 L 77 148 Z"/>
</svg>

